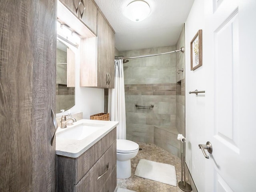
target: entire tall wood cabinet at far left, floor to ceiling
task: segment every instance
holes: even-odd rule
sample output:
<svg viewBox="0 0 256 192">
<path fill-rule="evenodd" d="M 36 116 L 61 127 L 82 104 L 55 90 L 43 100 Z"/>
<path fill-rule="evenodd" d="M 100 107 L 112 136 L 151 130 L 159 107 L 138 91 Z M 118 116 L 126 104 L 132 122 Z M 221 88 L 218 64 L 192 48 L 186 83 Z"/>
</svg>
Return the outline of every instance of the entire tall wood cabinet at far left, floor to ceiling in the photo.
<svg viewBox="0 0 256 192">
<path fill-rule="evenodd" d="M 56 1 L 0 1 L 0 191 L 55 191 Z"/>
</svg>

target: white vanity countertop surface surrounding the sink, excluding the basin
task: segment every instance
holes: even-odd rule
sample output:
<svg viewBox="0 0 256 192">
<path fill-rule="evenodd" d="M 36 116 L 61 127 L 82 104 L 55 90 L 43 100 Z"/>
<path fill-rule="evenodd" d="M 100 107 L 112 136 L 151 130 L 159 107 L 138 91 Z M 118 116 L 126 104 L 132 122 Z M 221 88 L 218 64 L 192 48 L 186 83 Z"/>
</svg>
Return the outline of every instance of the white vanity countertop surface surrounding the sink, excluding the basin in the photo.
<svg viewBox="0 0 256 192">
<path fill-rule="evenodd" d="M 58 134 L 60 132 L 64 132 L 69 128 L 72 128 L 81 123 L 88 124 L 102 124 L 99 130 L 93 132 L 86 138 L 82 140 L 74 140 L 68 138 L 58 138 Z M 90 120 L 90 119 L 81 119 L 77 122 L 74 122 L 73 125 L 67 126 L 67 128 L 58 127 L 56 131 L 56 154 L 77 158 L 81 154 L 83 154 L 86 150 L 88 150 L 91 146 L 93 146 L 96 142 L 98 142 L 101 138 L 103 138 L 106 134 L 108 134 L 111 130 L 113 130 L 119 122 L 116 121 L 101 121 L 101 120 Z"/>
</svg>

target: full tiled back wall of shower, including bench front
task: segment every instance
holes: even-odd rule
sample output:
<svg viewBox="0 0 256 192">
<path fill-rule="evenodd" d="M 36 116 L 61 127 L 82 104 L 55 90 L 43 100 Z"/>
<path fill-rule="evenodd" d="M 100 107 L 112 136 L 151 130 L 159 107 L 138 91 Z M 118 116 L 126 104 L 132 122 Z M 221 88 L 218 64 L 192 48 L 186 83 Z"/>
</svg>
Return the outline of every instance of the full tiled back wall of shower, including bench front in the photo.
<svg viewBox="0 0 256 192">
<path fill-rule="evenodd" d="M 170 52 L 176 46 L 120 51 L 124 56 Z M 155 143 L 179 156 L 176 130 L 176 54 L 130 59 L 124 64 L 126 138 Z M 154 105 L 139 109 L 138 105 Z"/>
</svg>

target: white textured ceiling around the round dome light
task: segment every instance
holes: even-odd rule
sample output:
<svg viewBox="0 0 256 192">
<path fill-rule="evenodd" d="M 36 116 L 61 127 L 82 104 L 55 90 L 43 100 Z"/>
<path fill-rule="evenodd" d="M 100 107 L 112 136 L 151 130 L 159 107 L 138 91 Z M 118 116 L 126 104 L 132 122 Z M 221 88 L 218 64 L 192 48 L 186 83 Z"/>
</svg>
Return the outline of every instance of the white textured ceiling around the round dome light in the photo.
<svg viewBox="0 0 256 192">
<path fill-rule="evenodd" d="M 115 47 L 136 50 L 175 45 L 194 0 L 145 0 L 148 18 L 132 22 L 123 14 L 133 0 L 94 0 L 116 32 Z"/>
</svg>

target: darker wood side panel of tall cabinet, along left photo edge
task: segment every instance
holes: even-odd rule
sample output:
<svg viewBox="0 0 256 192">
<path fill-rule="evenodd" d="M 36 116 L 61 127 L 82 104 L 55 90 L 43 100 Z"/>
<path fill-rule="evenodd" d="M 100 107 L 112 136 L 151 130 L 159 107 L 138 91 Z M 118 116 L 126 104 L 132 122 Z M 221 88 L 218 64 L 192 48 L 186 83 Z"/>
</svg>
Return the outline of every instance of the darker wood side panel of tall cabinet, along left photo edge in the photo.
<svg viewBox="0 0 256 192">
<path fill-rule="evenodd" d="M 32 68 L 26 62 L 31 60 L 31 55 L 28 49 L 21 54 L 19 48 L 24 42 L 24 47 L 31 46 L 31 30 L 24 25 L 32 21 L 24 6 L 25 2 L 14 6 L 10 6 L 7 0 L 0 2 L 0 191 L 20 191 L 20 188 L 29 189 L 31 185 L 32 170 L 27 167 L 32 167 L 32 131 L 26 129 L 32 126 L 32 122 L 27 120 L 32 117 Z M 15 19 L 17 16 L 20 20 Z M 23 78 L 22 73 L 26 73 L 27 78 L 19 80 Z"/>
</svg>

